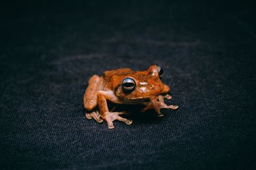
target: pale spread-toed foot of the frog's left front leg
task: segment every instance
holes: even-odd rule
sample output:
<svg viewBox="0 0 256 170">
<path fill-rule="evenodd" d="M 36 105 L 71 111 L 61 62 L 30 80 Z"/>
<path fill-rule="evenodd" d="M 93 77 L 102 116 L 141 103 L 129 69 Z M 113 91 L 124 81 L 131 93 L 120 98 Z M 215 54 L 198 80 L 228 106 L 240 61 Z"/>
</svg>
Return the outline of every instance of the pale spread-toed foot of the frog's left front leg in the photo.
<svg viewBox="0 0 256 170">
<path fill-rule="evenodd" d="M 127 125 L 131 125 L 132 120 L 120 117 L 119 115 L 122 115 L 122 114 L 127 114 L 127 112 L 126 111 L 106 112 L 103 115 L 101 115 L 101 118 L 108 123 L 108 129 L 114 128 L 114 125 L 113 125 L 114 120 L 119 120 L 119 121 L 125 122 L 125 124 Z"/>
</svg>

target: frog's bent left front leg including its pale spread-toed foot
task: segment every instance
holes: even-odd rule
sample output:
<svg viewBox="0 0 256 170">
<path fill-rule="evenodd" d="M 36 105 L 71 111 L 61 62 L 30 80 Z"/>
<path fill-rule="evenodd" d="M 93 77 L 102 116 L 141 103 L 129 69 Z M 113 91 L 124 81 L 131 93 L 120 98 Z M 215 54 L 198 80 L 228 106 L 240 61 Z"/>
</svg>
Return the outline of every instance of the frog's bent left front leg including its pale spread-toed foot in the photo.
<svg viewBox="0 0 256 170">
<path fill-rule="evenodd" d="M 122 118 L 119 115 L 125 114 L 125 111 L 115 111 L 110 112 L 108 110 L 108 103 L 107 100 L 112 101 L 113 103 L 121 103 L 118 97 L 111 91 L 99 91 L 97 93 L 97 103 L 99 105 L 100 117 L 108 123 L 108 128 L 113 129 L 113 121 L 119 120 L 125 122 L 127 125 L 132 124 L 132 120 L 128 120 L 126 118 Z"/>
</svg>

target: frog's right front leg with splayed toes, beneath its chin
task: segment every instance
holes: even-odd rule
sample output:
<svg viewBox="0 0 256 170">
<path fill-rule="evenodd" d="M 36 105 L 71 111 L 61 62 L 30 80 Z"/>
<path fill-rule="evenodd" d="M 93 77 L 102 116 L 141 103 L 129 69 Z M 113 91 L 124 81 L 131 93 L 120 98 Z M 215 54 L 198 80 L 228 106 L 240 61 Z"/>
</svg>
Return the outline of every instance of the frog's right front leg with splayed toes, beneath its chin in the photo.
<svg viewBox="0 0 256 170">
<path fill-rule="evenodd" d="M 177 108 L 179 108 L 179 106 L 177 105 L 166 105 L 164 103 L 164 98 L 166 99 L 172 99 L 172 96 L 170 96 L 169 94 L 160 94 L 158 96 L 153 96 L 150 97 L 150 101 L 145 102 L 145 108 L 143 108 L 141 111 L 146 111 L 149 109 L 154 109 L 157 113 L 157 117 L 163 117 L 163 114 L 161 113 L 160 109 L 161 108 L 168 108 L 168 109 L 172 109 L 172 110 L 177 110 Z"/>
</svg>

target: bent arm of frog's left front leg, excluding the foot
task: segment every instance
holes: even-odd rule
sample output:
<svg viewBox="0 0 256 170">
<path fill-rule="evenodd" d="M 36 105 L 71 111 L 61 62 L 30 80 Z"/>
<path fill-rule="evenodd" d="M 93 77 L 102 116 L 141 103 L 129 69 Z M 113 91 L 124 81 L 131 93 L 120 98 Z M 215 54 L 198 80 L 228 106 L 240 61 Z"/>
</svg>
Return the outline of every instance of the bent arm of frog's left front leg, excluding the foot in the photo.
<svg viewBox="0 0 256 170">
<path fill-rule="evenodd" d="M 113 103 L 122 104 L 122 102 L 115 96 L 112 91 L 99 91 L 97 92 L 97 103 L 99 104 L 100 113 L 109 112 L 107 100 Z"/>
</svg>

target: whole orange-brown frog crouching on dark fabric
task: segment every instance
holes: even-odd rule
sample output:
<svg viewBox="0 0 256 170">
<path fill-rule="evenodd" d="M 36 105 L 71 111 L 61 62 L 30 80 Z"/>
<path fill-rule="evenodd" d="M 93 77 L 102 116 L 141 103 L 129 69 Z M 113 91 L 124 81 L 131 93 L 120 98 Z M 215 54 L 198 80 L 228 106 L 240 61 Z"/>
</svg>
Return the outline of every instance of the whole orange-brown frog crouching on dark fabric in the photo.
<svg viewBox="0 0 256 170">
<path fill-rule="evenodd" d="M 163 83 L 163 68 L 156 64 L 145 71 L 132 71 L 130 68 L 104 71 L 102 76 L 94 74 L 88 81 L 84 92 L 83 105 L 86 118 L 99 123 L 106 122 L 109 129 L 113 129 L 114 120 L 127 125 L 132 120 L 121 117 L 127 111 L 115 111 L 115 106 L 109 110 L 108 103 L 142 104 L 141 112 L 155 110 L 157 117 L 163 117 L 161 109 L 177 110 L 177 105 L 167 105 L 164 99 L 172 99 L 170 86 Z"/>
</svg>

